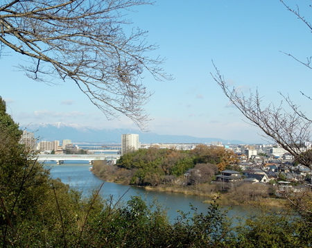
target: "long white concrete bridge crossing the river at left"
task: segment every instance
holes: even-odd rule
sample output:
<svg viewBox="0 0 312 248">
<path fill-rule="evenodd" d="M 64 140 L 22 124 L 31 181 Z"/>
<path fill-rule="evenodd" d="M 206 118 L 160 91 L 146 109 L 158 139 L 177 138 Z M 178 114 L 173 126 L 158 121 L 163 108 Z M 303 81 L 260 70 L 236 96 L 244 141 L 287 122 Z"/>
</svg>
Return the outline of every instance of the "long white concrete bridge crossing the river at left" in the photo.
<svg viewBox="0 0 312 248">
<path fill-rule="evenodd" d="M 64 161 L 85 160 L 90 164 L 95 160 L 116 161 L 120 154 L 39 154 L 38 161 L 56 161 L 57 164 Z"/>
</svg>

